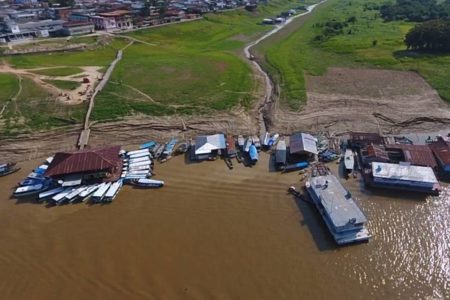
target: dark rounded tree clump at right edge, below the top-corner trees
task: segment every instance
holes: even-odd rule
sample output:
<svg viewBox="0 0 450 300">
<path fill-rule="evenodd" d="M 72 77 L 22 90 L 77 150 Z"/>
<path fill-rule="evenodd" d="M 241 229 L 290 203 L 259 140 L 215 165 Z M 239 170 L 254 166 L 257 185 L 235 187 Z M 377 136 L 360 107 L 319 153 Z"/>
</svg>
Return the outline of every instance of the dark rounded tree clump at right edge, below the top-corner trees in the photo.
<svg viewBox="0 0 450 300">
<path fill-rule="evenodd" d="M 408 49 L 450 51 L 450 22 L 431 20 L 417 24 L 405 37 Z"/>
</svg>

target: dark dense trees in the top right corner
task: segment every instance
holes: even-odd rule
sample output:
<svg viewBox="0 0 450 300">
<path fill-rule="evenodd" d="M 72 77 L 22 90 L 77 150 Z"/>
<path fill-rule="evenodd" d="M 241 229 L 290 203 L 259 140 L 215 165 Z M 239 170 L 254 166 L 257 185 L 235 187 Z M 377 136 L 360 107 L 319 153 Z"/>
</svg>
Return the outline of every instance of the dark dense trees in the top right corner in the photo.
<svg viewBox="0 0 450 300">
<path fill-rule="evenodd" d="M 397 0 L 380 7 L 380 13 L 385 21 L 406 20 L 423 22 L 428 20 L 448 18 L 450 16 L 450 0 Z"/>
</svg>

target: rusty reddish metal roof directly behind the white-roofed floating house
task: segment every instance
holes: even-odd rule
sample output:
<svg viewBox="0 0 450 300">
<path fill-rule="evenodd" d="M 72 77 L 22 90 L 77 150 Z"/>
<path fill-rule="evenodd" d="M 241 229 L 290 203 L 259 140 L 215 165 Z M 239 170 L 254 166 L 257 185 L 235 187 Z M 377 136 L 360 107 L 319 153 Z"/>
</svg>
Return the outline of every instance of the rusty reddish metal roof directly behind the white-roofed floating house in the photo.
<svg viewBox="0 0 450 300">
<path fill-rule="evenodd" d="M 434 159 L 433 152 L 430 147 L 426 145 L 405 145 L 405 144 L 395 144 L 386 145 L 386 149 L 400 149 L 403 151 L 405 160 L 413 165 L 426 166 L 431 168 L 436 168 L 437 163 Z"/>
</svg>

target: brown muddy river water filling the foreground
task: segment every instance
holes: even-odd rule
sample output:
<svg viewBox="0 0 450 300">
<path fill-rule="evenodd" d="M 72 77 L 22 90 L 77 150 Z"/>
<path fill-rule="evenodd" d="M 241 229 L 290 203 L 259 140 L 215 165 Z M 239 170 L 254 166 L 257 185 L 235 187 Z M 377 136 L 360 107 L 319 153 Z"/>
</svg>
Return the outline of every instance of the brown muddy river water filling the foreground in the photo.
<svg viewBox="0 0 450 300">
<path fill-rule="evenodd" d="M 450 297 L 449 194 L 361 192 L 369 243 L 334 245 L 299 175 L 223 161 L 156 166 L 160 190 L 111 205 L 20 203 L 0 178 L 2 299 L 362 299 Z M 332 164 L 337 169 L 336 164 Z"/>
</svg>

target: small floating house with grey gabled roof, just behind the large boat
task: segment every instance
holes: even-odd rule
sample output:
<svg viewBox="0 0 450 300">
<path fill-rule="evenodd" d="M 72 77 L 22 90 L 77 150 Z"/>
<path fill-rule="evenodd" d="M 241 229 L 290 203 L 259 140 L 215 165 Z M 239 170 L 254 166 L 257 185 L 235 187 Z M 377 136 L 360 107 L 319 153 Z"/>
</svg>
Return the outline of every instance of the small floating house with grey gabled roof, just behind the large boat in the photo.
<svg viewBox="0 0 450 300">
<path fill-rule="evenodd" d="M 296 163 L 317 155 L 317 139 L 307 133 L 295 133 L 289 139 L 289 162 Z"/>
</svg>

